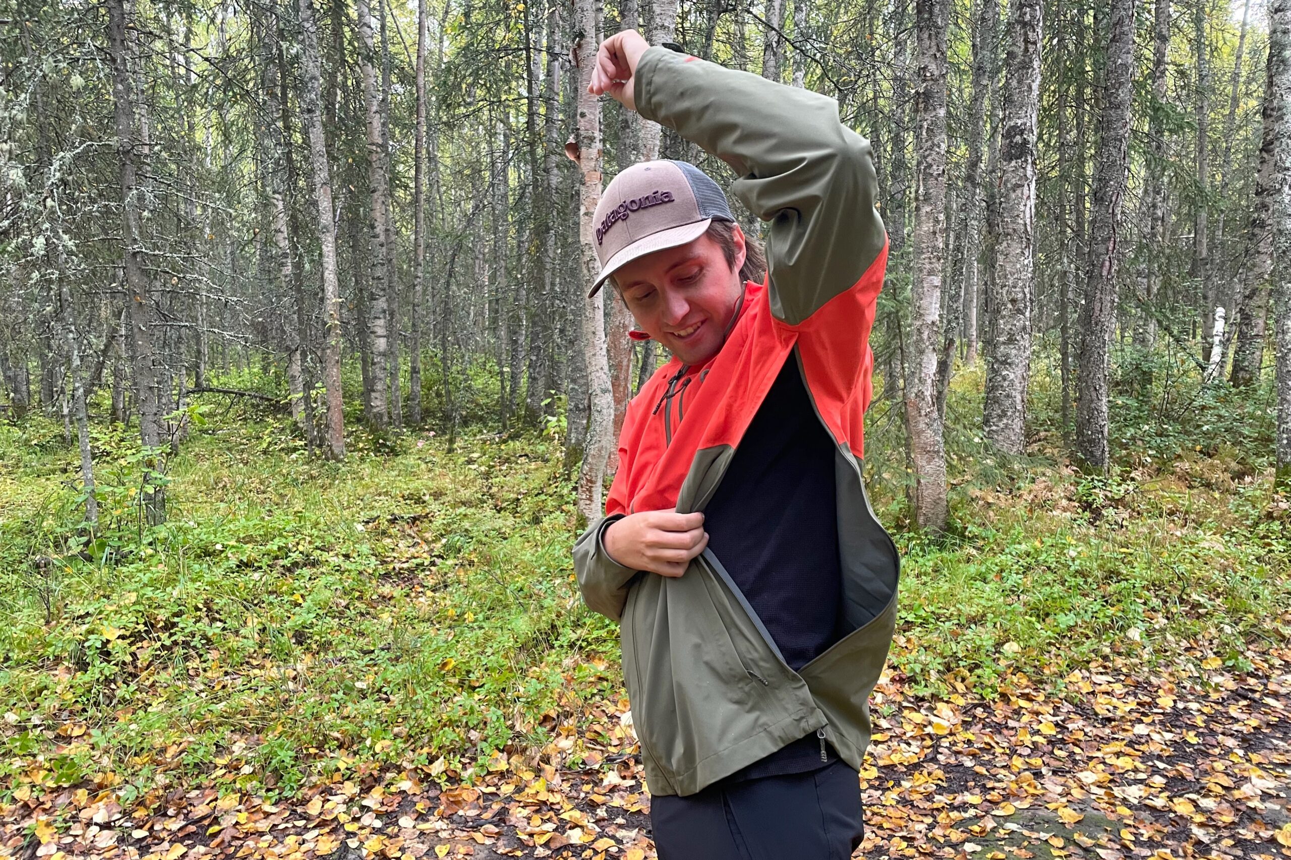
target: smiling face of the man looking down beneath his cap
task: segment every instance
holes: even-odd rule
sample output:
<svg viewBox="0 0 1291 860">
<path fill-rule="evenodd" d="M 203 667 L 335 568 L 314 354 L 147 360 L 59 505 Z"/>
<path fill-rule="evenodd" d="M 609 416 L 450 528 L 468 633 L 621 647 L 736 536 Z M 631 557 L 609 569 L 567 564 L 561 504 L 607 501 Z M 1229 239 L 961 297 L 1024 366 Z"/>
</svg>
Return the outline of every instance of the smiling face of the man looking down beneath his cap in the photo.
<svg viewBox="0 0 1291 860">
<path fill-rule="evenodd" d="M 683 364 L 702 364 L 718 354 L 744 284 L 744 234 L 735 229 L 736 258 L 707 235 L 625 263 L 615 272 L 627 310 L 647 334 Z"/>
</svg>

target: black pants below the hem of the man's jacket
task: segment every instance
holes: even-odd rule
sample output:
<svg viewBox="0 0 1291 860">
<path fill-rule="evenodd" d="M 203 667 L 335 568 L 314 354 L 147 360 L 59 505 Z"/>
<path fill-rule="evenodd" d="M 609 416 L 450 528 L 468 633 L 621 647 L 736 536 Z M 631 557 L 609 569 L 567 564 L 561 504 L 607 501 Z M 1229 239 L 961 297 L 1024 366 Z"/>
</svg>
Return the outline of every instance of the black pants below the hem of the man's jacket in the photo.
<svg viewBox="0 0 1291 860">
<path fill-rule="evenodd" d="M 865 824 L 847 762 L 651 799 L 658 860 L 847 860 Z"/>
</svg>

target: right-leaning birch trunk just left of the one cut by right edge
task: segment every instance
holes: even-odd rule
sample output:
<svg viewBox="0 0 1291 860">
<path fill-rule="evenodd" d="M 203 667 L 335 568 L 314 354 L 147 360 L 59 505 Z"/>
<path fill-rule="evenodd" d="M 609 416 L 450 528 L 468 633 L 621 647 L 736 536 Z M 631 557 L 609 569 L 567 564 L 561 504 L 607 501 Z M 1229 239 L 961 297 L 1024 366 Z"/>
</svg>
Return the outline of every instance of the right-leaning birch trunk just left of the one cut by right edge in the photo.
<svg viewBox="0 0 1291 860">
<path fill-rule="evenodd" d="M 1278 114 L 1273 98 L 1274 65 L 1268 63 L 1261 108 L 1260 165 L 1255 176 L 1255 201 L 1251 207 L 1246 282 L 1237 316 L 1237 345 L 1233 347 L 1233 371 L 1229 381 L 1243 387 L 1260 376 L 1264 359 L 1264 327 L 1269 305 L 1269 272 L 1273 270 L 1273 194 L 1274 150 L 1277 147 Z"/>
</svg>

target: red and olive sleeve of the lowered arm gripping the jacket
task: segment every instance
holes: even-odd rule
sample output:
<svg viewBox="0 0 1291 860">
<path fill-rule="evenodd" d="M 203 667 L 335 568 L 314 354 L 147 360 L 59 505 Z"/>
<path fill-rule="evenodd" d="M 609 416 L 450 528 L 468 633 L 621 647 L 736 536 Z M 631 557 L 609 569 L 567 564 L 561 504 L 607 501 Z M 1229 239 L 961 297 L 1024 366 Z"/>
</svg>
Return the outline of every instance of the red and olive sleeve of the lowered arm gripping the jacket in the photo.
<svg viewBox="0 0 1291 860">
<path fill-rule="evenodd" d="M 635 445 L 627 444 L 636 434 L 642 420 L 640 394 L 627 403 L 624 426 L 618 431 L 618 471 L 605 497 L 605 517 L 587 526 L 587 529 L 573 545 L 573 569 L 578 578 L 582 602 L 593 612 L 599 612 L 611 621 L 618 621 L 627 603 L 627 590 L 639 573 L 624 567 L 609 557 L 603 540 L 604 531 L 627 515 L 627 478 L 631 474 Z"/>
</svg>

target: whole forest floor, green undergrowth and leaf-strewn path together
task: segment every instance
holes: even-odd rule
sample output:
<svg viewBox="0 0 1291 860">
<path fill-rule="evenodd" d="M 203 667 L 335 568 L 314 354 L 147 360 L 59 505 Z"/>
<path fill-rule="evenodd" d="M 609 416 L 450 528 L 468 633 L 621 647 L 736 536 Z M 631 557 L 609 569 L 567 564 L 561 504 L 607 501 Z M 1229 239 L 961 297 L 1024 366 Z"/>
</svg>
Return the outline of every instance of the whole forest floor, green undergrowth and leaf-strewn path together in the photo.
<svg viewBox="0 0 1291 860">
<path fill-rule="evenodd" d="M 653 856 L 556 440 L 334 466 L 234 418 L 155 529 L 97 431 L 96 535 L 58 429 L 0 429 L 0 855 Z M 893 528 L 856 856 L 1291 856 L 1291 505 L 1226 451 L 1010 469 L 957 479 L 954 540 Z"/>
</svg>

